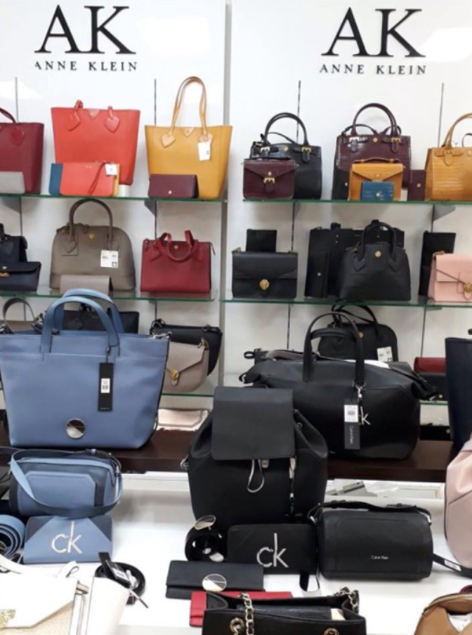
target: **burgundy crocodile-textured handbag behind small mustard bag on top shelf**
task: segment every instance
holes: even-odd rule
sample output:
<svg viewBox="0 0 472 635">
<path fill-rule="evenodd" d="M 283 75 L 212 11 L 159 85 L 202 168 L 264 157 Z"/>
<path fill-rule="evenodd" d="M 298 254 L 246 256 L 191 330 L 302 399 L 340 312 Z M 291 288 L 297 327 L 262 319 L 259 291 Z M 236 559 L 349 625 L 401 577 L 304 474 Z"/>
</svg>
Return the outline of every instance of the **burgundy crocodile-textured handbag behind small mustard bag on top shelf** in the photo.
<svg viewBox="0 0 472 635">
<path fill-rule="evenodd" d="M 369 108 L 382 110 L 388 117 L 390 125 L 381 132 L 370 126 L 358 124 L 359 116 Z M 358 131 L 362 128 L 362 131 Z M 365 130 L 367 129 L 367 131 Z M 403 165 L 402 187 L 407 188 L 411 164 L 410 138 L 402 134 L 391 110 L 379 103 L 362 106 L 355 114 L 353 123 L 338 136 L 334 155 L 333 199 L 348 198 L 348 175 L 350 166 L 360 159 L 397 159 Z"/>
</svg>

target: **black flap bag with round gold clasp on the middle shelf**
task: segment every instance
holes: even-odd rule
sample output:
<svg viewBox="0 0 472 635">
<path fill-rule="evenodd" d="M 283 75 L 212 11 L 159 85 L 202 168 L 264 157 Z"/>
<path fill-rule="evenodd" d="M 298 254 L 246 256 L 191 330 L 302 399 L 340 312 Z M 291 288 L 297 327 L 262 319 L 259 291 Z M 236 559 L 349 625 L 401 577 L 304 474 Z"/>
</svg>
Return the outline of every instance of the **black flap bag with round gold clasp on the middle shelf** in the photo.
<svg viewBox="0 0 472 635">
<path fill-rule="evenodd" d="M 299 254 L 232 252 L 232 296 L 290 300 L 296 297 Z"/>
</svg>

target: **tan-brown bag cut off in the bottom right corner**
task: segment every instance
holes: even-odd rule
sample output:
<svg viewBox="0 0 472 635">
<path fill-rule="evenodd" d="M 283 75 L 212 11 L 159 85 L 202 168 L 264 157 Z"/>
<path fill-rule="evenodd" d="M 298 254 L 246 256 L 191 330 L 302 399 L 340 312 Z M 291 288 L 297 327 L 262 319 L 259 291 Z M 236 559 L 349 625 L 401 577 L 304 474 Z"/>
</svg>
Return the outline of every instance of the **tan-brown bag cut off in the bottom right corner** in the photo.
<svg viewBox="0 0 472 635">
<path fill-rule="evenodd" d="M 463 630 L 459 626 L 460 616 L 469 613 L 472 613 L 471 593 L 442 596 L 425 608 L 414 635 L 457 635 L 459 632 L 472 635 L 472 624 Z"/>
</svg>

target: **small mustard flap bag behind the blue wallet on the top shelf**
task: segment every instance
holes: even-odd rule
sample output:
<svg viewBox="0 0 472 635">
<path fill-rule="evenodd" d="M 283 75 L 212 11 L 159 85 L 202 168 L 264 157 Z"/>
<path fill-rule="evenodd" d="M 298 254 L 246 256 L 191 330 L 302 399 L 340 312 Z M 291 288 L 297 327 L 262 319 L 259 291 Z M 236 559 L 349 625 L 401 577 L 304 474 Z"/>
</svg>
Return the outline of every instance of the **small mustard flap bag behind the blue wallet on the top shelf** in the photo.
<svg viewBox="0 0 472 635">
<path fill-rule="evenodd" d="M 350 166 L 349 194 L 351 201 L 360 201 L 362 183 L 375 181 L 391 181 L 393 183 L 393 200 L 400 200 L 402 194 L 403 164 L 397 159 L 362 159 Z"/>
</svg>

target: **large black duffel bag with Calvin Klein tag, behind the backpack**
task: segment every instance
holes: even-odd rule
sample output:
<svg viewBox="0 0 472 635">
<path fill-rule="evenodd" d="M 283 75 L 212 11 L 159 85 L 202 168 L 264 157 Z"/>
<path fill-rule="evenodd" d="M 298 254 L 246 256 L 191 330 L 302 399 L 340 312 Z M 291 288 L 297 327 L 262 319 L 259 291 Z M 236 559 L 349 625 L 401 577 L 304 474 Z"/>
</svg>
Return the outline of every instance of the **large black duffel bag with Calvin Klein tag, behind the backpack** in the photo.
<svg viewBox="0 0 472 635">
<path fill-rule="evenodd" d="M 306 332 L 303 360 L 260 362 L 242 376 L 245 384 L 291 388 L 294 407 L 316 426 L 330 452 L 346 457 L 405 459 L 419 436 L 419 399 L 431 396 L 431 387 L 413 371 L 365 362 L 362 339 L 355 322 L 352 333 L 313 326 Z M 313 356 L 318 337 L 355 341 L 355 362 Z"/>
</svg>

